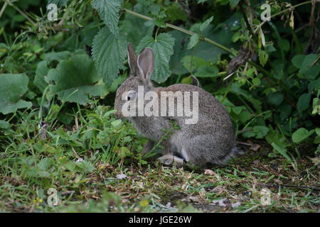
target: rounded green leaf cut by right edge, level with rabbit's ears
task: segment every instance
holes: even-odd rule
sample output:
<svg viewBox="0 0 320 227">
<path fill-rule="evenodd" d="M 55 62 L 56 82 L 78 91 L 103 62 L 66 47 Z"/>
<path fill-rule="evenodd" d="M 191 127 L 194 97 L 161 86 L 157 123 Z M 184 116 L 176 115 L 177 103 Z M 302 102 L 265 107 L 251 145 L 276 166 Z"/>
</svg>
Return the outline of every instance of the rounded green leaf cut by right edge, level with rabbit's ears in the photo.
<svg viewBox="0 0 320 227">
<path fill-rule="evenodd" d="M 319 76 L 320 66 L 319 61 L 316 61 L 318 55 L 306 55 L 302 66 L 300 67 L 299 74 L 304 74 L 306 79 L 316 79 Z"/>
</svg>

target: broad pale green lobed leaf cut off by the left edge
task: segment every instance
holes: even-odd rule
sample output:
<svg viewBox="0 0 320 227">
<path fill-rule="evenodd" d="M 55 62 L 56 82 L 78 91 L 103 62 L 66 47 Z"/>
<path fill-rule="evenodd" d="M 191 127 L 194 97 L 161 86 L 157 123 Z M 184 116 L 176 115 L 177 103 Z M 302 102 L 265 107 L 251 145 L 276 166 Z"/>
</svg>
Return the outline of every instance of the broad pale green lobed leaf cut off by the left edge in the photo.
<svg viewBox="0 0 320 227">
<path fill-rule="evenodd" d="M 9 114 L 17 109 L 31 108 L 30 101 L 21 97 L 28 91 L 29 79 L 26 74 L 0 74 L 0 113 Z"/>
</svg>

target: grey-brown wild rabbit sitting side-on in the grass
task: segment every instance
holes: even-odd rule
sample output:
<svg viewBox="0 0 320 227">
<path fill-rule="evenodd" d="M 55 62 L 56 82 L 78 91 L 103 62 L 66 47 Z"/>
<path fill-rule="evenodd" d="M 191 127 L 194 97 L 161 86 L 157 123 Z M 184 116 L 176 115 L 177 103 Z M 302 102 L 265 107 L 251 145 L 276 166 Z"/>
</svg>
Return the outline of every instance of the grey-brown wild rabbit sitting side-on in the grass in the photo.
<svg viewBox="0 0 320 227">
<path fill-rule="evenodd" d="M 219 101 L 201 87 L 190 84 L 154 87 L 150 79 L 154 70 L 154 52 L 151 48 L 144 48 L 137 57 L 132 44 L 129 43 L 128 62 L 130 74 L 117 89 L 114 109 L 117 110 L 117 116 L 129 118 L 139 133 L 150 138 L 144 145 L 143 153 L 149 152 L 154 144 L 161 140 L 165 133 L 163 129 L 170 130 L 173 119 L 180 129 L 174 130 L 169 138 L 161 142 L 164 147 L 164 156 L 160 157 L 160 160 L 163 164 L 171 165 L 173 163 L 181 166 L 185 160 L 191 162 L 192 165 L 203 167 L 210 164 L 224 164 L 230 157 L 233 157 L 234 153 L 238 151 L 235 147 L 233 123 L 228 111 Z M 143 88 L 143 93 L 139 93 L 139 87 Z M 174 116 L 163 116 L 163 114 L 150 116 L 146 113 L 142 113 L 140 116 L 124 116 L 122 113 L 124 105 L 126 103 L 132 104 L 133 107 L 130 106 L 130 108 L 137 108 L 139 99 L 143 99 L 147 92 L 154 92 L 159 97 L 164 92 L 190 94 L 189 101 L 194 103 L 197 101 L 196 98 L 198 99 L 198 106 L 196 106 L 198 107 L 198 121 L 186 123 L 186 119 L 190 116 L 177 116 L 178 109 L 174 111 Z M 185 106 L 188 99 L 183 99 L 182 102 L 175 99 L 175 104 Z M 151 101 L 160 104 L 161 99 L 152 99 Z M 142 107 L 146 107 L 146 105 L 144 104 Z M 169 115 L 167 113 L 169 109 L 166 106 L 164 109 Z M 159 113 L 160 111 L 159 109 Z M 177 155 L 174 155 L 174 150 Z"/>
</svg>

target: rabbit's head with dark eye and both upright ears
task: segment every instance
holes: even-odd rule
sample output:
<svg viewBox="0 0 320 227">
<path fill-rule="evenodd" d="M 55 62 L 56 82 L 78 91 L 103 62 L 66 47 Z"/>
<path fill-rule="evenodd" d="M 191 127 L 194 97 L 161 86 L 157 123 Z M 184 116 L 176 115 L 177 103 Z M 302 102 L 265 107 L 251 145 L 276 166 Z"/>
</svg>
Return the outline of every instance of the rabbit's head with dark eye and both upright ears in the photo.
<svg viewBox="0 0 320 227">
<path fill-rule="evenodd" d="M 144 48 L 139 56 L 134 52 L 132 44 L 128 43 L 129 77 L 117 89 L 114 109 L 117 117 L 122 118 L 122 106 L 127 102 L 136 103 L 138 86 L 144 87 L 144 93 L 153 89 L 151 74 L 154 71 L 154 52 L 151 48 Z"/>
</svg>

